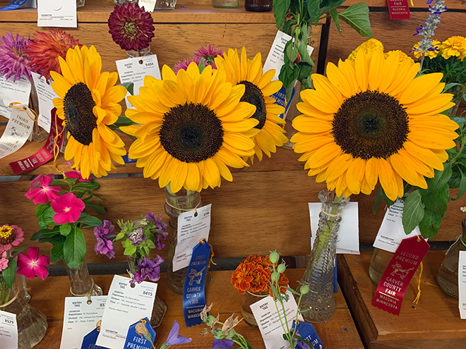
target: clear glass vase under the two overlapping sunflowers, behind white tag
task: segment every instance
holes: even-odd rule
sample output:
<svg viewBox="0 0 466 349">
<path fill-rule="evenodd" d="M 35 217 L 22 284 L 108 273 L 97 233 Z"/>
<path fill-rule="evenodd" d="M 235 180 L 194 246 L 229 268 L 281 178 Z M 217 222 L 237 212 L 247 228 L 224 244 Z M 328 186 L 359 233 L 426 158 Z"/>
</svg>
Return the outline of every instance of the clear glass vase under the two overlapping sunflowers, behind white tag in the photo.
<svg viewBox="0 0 466 349">
<path fill-rule="evenodd" d="M 201 207 L 201 193 L 185 189 L 181 189 L 179 192 L 172 192 L 170 185 L 167 185 L 165 187 L 165 195 L 167 197 L 165 212 L 169 217 L 167 227 L 169 241 L 167 284 L 169 289 L 174 293 L 182 295 L 188 267 L 173 271 L 173 257 L 175 248 L 177 247 L 178 216 L 183 212 Z M 207 282 L 208 277 L 205 280 Z"/>
</svg>

